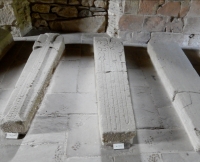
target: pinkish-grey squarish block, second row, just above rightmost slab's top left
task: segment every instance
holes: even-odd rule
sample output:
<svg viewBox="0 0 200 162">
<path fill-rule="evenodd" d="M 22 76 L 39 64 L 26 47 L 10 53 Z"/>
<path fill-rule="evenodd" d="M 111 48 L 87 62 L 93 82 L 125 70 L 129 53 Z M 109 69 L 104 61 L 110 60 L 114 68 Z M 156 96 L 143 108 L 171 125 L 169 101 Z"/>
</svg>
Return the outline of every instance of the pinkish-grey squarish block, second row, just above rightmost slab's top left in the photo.
<svg viewBox="0 0 200 162">
<path fill-rule="evenodd" d="M 143 29 L 150 32 L 164 32 L 166 23 L 167 17 L 145 16 Z"/>
</svg>

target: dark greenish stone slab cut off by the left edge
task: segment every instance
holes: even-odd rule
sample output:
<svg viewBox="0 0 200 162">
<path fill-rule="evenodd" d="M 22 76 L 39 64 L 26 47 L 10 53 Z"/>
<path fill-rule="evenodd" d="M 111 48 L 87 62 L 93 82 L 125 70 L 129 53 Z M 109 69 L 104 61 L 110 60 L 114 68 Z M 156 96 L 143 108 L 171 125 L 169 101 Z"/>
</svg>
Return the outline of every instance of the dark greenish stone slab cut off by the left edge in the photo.
<svg viewBox="0 0 200 162">
<path fill-rule="evenodd" d="M 0 28 L 0 60 L 13 44 L 10 32 Z"/>
</svg>

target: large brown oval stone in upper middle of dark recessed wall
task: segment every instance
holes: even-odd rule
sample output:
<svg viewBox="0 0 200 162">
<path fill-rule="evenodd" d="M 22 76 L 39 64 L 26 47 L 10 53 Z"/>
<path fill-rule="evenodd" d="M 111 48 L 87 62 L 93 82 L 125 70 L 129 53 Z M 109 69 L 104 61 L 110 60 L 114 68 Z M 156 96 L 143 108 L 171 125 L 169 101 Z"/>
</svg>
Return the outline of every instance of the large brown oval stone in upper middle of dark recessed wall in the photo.
<svg viewBox="0 0 200 162">
<path fill-rule="evenodd" d="M 52 12 L 56 13 L 58 16 L 72 18 L 78 16 L 78 10 L 74 6 L 67 7 L 53 7 Z"/>
</svg>

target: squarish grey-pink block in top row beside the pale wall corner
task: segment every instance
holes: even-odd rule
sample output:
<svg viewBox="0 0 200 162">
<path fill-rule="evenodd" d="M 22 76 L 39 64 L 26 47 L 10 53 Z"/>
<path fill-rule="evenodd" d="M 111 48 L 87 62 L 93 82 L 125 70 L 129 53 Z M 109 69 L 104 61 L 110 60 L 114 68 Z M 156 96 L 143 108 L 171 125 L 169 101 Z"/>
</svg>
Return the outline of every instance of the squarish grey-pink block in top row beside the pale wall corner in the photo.
<svg viewBox="0 0 200 162">
<path fill-rule="evenodd" d="M 125 14 L 137 14 L 139 8 L 138 0 L 126 0 L 122 2 L 123 13 Z"/>
</svg>

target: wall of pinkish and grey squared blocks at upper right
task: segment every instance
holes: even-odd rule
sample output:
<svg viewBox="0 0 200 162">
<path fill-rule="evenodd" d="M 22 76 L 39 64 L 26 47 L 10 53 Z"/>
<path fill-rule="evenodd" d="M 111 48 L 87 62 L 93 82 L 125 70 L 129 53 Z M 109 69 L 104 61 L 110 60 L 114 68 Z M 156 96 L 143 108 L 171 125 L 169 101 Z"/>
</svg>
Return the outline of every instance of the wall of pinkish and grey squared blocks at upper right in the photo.
<svg viewBox="0 0 200 162">
<path fill-rule="evenodd" d="M 200 42 L 200 0 L 110 0 L 108 13 L 107 33 L 125 41 L 147 43 L 159 32 Z"/>
</svg>

